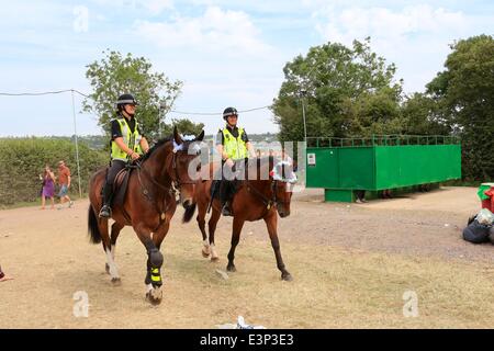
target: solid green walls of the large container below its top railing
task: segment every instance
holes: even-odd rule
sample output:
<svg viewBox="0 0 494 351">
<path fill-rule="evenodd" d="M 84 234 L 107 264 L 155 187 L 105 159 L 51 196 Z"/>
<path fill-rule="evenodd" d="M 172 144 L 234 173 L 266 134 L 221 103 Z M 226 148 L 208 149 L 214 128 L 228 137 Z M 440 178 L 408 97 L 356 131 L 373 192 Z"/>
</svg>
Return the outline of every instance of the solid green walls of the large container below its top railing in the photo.
<svg viewBox="0 0 494 351">
<path fill-rule="evenodd" d="M 460 144 L 307 148 L 308 188 L 378 191 L 460 178 Z"/>
</svg>

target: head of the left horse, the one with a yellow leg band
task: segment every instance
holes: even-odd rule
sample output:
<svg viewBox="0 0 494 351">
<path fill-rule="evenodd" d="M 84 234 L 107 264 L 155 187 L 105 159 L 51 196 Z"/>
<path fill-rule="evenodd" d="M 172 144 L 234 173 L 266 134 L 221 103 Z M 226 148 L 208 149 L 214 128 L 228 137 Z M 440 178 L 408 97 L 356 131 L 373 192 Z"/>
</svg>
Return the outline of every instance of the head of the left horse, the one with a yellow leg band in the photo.
<svg viewBox="0 0 494 351">
<path fill-rule="evenodd" d="M 204 138 L 204 131 L 197 137 L 182 138 L 173 128 L 173 156 L 171 179 L 180 192 L 180 203 L 187 210 L 194 205 L 195 183 L 201 167 L 199 144 Z"/>
</svg>

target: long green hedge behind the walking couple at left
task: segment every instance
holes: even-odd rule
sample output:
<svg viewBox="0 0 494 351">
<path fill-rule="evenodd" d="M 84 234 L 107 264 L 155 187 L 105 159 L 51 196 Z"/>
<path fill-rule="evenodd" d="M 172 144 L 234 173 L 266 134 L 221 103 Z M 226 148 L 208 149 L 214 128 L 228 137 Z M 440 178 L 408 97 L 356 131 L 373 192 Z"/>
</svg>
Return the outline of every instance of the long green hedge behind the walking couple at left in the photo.
<svg viewBox="0 0 494 351">
<path fill-rule="evenodd" d="M 31 202 L 40 199 L 45 165 L 57 176 L 57 162 L 65 160 L 72 174 L 70 191 L 78 194 L 76 146 L 64 139 L 2 138 L 0 139 L 0 205 Z M 108 165 L 108 154 L 91 150 L 79 144 L 80 179 L 82 192 L 87 192 L 91 174 Z"/>
</svg>

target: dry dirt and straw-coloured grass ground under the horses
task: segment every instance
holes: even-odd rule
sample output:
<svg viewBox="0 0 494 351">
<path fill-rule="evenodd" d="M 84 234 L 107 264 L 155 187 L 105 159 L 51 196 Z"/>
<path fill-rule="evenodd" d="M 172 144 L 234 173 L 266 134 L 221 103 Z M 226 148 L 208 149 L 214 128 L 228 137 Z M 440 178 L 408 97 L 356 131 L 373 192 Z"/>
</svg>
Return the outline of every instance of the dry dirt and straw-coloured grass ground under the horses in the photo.
<svg viewBox="0 0 494 351">
<path fill-rule="evenodd" d="M 122 285 L 89 244 L 87 201 L 60 211 L 0 212 L 0 328 L 491 328 L 494 251 L 461 238 L 480 210 L 474 188 L 442 188 L 367 204 L 324 203 L 322 190 L 295 194 L 279 220 L 292 282 L 282 282 L 262 222 L 244 226 L 236 273 L 225 280 L 231 218 L 216 234 L 221 259 L 201 256 L 195 222 L 178 210 L 164 241 L 164 301 L 144 298 L 145 249 L 131 228 L 116 247 Z M 76 317 L 77 292 L 89 298 Z M 416 296 L 411 299 L 409 296 Z M 413 306 L 404 314 L 404 306 Z M 408 309 L 407 309 L 408 310 Z M 408 316 L 408 317 L 407 317 Z"/>
</svg>

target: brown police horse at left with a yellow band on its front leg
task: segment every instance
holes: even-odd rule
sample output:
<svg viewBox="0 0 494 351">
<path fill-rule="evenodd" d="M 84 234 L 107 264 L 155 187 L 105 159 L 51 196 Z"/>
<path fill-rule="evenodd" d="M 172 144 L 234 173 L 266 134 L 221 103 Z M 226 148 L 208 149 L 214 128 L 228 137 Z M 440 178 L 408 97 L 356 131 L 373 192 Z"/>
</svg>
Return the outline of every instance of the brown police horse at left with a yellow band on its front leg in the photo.
<svg viewBox="0 0 494 351">
<path fill-rule="evenodd" d="M 175 189 L 180 193 L 180 202 L 186 208 L 183 222 L 189 222 L 194 213 L 193 200 L 195 183 L 189 177 L 189 167 L 198 158 L 189 146 L 192 141 L 201 141 L 204 131 L 191 141 L 183 140 L 173 129 L 173 136 L 159 140 L 132 170 L 123 204 L 113 205 L 111 236 L 109 236 L 108 218 L 98 218 L 102 206 L 101 189 L 105 181 L 106 170 L 93 174 L 89 184 L 88 230 L 93 244 L 103 242 L 106 254 L 106 272 L 113 283 L 120 283 L 116 269 L 115 244 L 124 226 L 132 226 L 148 254 L 146 297 L 151 304 L 159 304 L 162 298 L 161 273 L 162 254 L 159 251 L 161 241 L 168 233 L 171 217 L 177 207 Z M 194 149 L 195 148 L 190 148 Z M 117 194 L 115 193 L 115 197 Z"/>
</svg>

